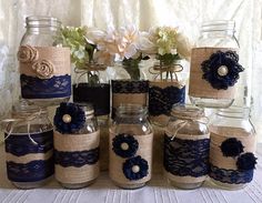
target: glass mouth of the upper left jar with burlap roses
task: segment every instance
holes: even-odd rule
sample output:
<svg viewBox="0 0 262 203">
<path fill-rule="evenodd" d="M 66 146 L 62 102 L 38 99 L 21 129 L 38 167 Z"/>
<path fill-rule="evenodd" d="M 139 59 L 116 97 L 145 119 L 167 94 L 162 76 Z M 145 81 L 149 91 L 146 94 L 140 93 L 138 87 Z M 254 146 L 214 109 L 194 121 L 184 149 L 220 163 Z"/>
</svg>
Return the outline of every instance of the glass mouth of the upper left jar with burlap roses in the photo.
<svg viewBox="0 0 262 203">
<path fill-rule="evenodd" d="M 26 28 L 60 28 L 61 21 L 53 17 L 31 16 L 26 18 Z"/>
</svg>

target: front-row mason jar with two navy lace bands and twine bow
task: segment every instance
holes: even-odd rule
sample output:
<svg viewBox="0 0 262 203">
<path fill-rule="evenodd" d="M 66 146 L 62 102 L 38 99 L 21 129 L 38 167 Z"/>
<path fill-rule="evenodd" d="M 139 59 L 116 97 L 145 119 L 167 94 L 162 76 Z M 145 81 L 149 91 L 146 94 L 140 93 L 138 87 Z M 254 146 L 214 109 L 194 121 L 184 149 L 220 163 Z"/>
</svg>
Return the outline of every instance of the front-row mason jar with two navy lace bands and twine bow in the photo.
<svg viewBox="0 0 262 203">
<path fill-rule="evenodd" d="M 53 175 L 53 128 L 47 110 L 22 101 L 6 122 L 9 181 L 19 189 L 42 186 Z"/>
</svg>

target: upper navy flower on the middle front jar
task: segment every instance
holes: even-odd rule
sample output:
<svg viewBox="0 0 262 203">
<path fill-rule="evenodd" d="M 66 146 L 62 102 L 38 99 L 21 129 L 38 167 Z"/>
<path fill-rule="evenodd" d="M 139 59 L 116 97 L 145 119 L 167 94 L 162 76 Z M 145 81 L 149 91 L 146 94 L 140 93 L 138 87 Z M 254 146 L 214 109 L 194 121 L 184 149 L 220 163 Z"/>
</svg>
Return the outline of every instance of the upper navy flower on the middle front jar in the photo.
<svg viewBox="0 0 262 203">
<path fill-rule="evenodd" d="M 132 158 L 139 149 L 139 142 L 125 133 L 114 136 L 112 145 L 114 153 L 121 158 Z"/>
</svg>

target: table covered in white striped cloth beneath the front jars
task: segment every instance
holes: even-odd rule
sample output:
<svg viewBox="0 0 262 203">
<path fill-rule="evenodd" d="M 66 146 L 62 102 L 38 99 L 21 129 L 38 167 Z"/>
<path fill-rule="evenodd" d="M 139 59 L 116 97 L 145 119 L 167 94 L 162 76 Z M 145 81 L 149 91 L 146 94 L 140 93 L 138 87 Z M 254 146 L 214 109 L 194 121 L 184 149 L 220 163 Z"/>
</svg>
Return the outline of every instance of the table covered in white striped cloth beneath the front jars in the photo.
<svg viewBox="0 0 262 203">
<path fill-rule="evenodd" d="M 108 173 L 81 190 L 64 190 L 54 180 L 44 187 L 18 190 L 7 180 L 3 145 L 0 146 L 0 203 L 262 203 L 262 145 L 258 146 L 254 180 L 239 191 L 225 191 L 204 184 L 196 190 L 170 186 L 161 174 L 138 190 L 114 186 Z"/>
</svg>

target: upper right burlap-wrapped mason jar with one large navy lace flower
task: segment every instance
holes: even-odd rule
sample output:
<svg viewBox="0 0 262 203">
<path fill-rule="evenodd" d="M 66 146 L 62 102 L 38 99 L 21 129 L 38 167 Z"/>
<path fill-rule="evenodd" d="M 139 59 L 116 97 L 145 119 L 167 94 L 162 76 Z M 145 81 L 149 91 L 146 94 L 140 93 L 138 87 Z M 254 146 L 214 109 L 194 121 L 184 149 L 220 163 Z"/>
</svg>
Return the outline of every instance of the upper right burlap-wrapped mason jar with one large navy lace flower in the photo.
<svg viewBox="0 0 262 203">
<path fill-rule="evenodd" d="M 198 47 L 192 49 L 189 95 L 193 104 L 229 108 L 234 101 L 240 72 L 234 21 L 202 24 Z"/>
</svg>

